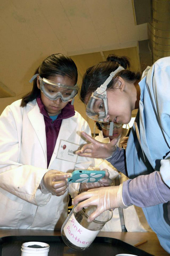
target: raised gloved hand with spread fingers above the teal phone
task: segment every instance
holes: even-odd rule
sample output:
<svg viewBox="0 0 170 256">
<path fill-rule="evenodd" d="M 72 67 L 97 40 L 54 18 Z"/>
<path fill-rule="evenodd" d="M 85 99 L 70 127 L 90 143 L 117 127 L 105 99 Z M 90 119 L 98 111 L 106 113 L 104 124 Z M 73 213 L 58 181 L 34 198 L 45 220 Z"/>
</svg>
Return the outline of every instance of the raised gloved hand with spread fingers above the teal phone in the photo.
<svg viewBox="0 0 170 256">
<path fill-rule="evenodd" d="M 116 151 L 115 145 L 118 141 L 117 139 L 112 139 L 110 143 L 102 143 L 93 139 L 84 131 L 81 132 L 81 135 L 91 143 L 85 144 L 80 150 L 76 151 L 76 154 L 79 156 L 106 159 L 112 156 L 113 152 Z"/>
</svg>

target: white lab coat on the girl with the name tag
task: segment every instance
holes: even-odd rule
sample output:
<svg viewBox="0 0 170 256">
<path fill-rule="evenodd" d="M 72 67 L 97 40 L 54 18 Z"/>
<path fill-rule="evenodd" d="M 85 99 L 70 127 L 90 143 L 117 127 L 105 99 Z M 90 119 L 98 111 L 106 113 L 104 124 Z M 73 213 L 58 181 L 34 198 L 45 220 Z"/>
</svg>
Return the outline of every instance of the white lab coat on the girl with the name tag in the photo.
<svg viewBox="0 0 170 256">
<path fill-rule="evenodd" d="M 78 112 L 63 119 L 47 169 L 44 117 L 36 100 L 24 108 L 20 103 L 6 107 L 0 117 L 0 228 L 59 229 L 67 217 L 68 193 L 43 194 L 38 187 L 49 169 L 72 172 L 93 166 L 91 158 L 78 156 L 76 163 L 56 158 L 60 139 L 85 144 L 78 132 L 91 134 L 90 128 Z M 72 196 L 76 188 L 69 186 Z"/>
</svg>

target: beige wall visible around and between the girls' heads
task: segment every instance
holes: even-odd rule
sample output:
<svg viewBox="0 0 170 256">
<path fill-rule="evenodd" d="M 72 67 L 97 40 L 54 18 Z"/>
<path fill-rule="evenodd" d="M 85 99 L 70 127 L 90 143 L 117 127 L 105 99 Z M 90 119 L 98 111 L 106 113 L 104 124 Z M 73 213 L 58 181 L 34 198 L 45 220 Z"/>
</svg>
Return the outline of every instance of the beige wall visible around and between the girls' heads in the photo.
<svg viewBox="0 0 170 256">
<path fill-rule="evenodd" d="M 131 70 L 134 71 L 140 71 L 140 63 L 139 63 L 139 54 L 138 54 L 138 48 L 137 47 L 130 47 L 130 48 L 123 48 L 123 49 L 116 49 L 116 50 L 110 50 L 110 51 L 102 51 L 101 52 L 94 52 L 89 54 L 79 54 L 71 56 L 71 58 L 74 60 L 74 62 L 77 65 L 78 69 L 78 82 L 79 88 L 81 88 L 82 83 L 82 77 L 85 73 L 86 69 L 89 68 L 92 65 L 96 65 L 100 61 L 103 61 L 107 58 L 108 54 L 117 54 L 119 56 L 127 56 L 130 58 L 131 63 Z M 10 105 L 15 100 L 20 99 L 23 97 L 24 94 L 26 94 L 28 91 L 31 91 L 32 85 L 28 82 L 28 80 L 31 78 L 32 74 L 34 74 L 35 69 L 38 65 L 40 65 L 41 61 L 38 63 L 35 61 L 35 65 L 30 69 L 28 68 L 28 74 L 26 74 L 25 81 L 23 82 L 26 87 L 26 92 L 21 94 L 17 97 L 6 97 L 6 98 L 0 98 L 0 113 L 2 113 L 3 109 Z M 22 81 L 18 81 L 18 87 L 23 88 Z M 85 120 L 89 123 L 91 132 L 94 133 L 94 121 L 92 119 L 89 119 L 85 114 L 85 105 L 81 102 L 79 99 L 79 95 L 75 98 L 74 102 L 74 108 L 76 111 L 78 111 L 82 117 L 85 118 Z M 133 111 L 133 113 L 136 113 L 136 111 Z M 98 130 L 96 129 L 96 133 Z"/>
</svg>

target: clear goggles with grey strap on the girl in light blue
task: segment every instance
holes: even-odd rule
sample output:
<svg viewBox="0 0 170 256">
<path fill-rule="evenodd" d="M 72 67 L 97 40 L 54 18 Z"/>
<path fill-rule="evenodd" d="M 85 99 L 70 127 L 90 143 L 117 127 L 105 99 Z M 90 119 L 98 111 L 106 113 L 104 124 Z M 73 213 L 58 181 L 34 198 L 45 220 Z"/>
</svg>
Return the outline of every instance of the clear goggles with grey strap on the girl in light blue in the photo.
<svg viewBox="0 0 170 256">
<path fill-rule="evenodd" d="M 104 122 L 103 119 L 105 119 L 108 114 L 107 86 L 113 77 L 123 69 L 123 67 L 119 66 L 119 68 L 111 72 L 105 82 L 91 94 L 86 107 L 88 117 L 95 121 Z"/>
</svg>

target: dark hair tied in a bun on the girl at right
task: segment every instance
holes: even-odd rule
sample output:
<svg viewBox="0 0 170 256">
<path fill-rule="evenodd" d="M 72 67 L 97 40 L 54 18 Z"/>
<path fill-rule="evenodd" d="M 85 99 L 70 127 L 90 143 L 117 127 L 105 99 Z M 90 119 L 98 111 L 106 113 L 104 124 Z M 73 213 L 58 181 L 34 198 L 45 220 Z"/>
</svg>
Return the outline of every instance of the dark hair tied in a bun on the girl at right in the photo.
<svg viewBox="0 0 170 256">
<path fill-rule="evenodd" d="M 108 84 L 107 88 L 113 87 L 118 77 L 122 77 L 127 82 L 136 82 L 141 78 L 140 72 L 130 71 L 130 60 L 126 56 L 117 56 L 109 54 L 106 61 L 100 62 L 86 71 L 80 91 L 80 99 L 85 102 L 85 97 L 91 95 L 105 80 L 109 77 L 111 72 L 115 71 L 119 66 L 125 68 L 119 71 L 115 77 Z M 128 68 L 128 69 L 127 69 Z"/>
</svg>

